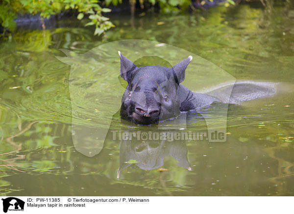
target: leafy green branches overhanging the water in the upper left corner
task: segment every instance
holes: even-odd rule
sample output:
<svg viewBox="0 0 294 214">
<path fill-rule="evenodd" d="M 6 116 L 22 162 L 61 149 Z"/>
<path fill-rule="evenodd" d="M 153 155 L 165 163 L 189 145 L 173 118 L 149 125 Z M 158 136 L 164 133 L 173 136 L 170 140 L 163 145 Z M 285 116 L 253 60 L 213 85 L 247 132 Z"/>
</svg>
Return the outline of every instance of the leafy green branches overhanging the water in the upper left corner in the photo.
<svg viewBox="0 0 294 214">
<path fill-rule="evenodd" d="M 78 20 L 88 15 L 91 22 L 86 26 L 94 25 L 95 35 L 100 35 L 105 30 L 114 27 L 107 17 L 101 15 L 102 12 L 107 13 L 111 10 L 101 8 L 98 0 L 4 0 L 0 3 L 0 24 L 4 28 L 13 30 L 16 26 L 13 19 L 19 13 L 40 14 L 42 18 L 49 18 L 51 15 L 67 10 L 78 11 Z"/>
</svg>

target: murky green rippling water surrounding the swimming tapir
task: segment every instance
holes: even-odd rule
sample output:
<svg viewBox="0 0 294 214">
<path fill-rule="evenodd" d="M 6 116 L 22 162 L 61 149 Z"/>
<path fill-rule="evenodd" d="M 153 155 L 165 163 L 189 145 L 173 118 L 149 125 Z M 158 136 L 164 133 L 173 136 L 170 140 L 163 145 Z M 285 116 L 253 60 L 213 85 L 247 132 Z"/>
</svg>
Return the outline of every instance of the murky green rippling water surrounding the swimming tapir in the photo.
<svg viewBox="0 0 294 214">
<path fill-rule="evenodd" d="M 117 27 L 101 38 L 73 22 L 17 31 L 0 44 L 1 195 L 294 195 L 293 5 L 113 17 Z M 183 82 L 193 90 L 234 77 L 278 83 L 278 93 L 229 106 L 226 142 L 134 140 L 126 145 L 109 133 L 105 141 L 98 139 L 109 125 L 119 131 L 157 130 L 121 123 L 115 114 L 124 83 L 118 79 L 116 46 L 103 47 L 125 39 L 166 43 L 195 54 Z M 96 47 L 106 54 L 87 57 Z M 64 60 L 79 60 L 71 67 L 55 57 L 65 56 L 59 49 L 86 57 Z M 119 51 L 136 60 L 130 54 L 136 49 L 129 45 Z M 171 64 L 187 57 L 169 48 L 142 49 L 143 55 L 169 56 Z M 202 117 L 193 112 L 190 117 L 187 131 L 207 129 Z M 74 138 L 78 130 L 85 133 Z M 98 139 L 89 150 L 98 153 L 93 157 L 74 147 L 74 140 L 87 147 L 83 143 L 93 139 Z M 144 148 L 147 156 L 140 155 Z M 149 165 L 154 169 L 147 170 Z"/>
</svg>

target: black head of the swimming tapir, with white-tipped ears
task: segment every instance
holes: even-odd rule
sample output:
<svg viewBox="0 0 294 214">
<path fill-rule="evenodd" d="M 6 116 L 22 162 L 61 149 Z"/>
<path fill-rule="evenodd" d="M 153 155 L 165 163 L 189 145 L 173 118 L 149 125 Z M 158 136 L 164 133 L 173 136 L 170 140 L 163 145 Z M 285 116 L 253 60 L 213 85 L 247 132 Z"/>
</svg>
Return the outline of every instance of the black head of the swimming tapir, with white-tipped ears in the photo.
<svg viewBox="0 0 294 214">
<path fill-rule="evenodd" d="M 192 56 L 174 65 L 137 67 L 119 52 L 121 76 L 128 85 L 122 98 L 121 117 L 148 125 L 180 114 L 178 90 Z"/>
</svg>

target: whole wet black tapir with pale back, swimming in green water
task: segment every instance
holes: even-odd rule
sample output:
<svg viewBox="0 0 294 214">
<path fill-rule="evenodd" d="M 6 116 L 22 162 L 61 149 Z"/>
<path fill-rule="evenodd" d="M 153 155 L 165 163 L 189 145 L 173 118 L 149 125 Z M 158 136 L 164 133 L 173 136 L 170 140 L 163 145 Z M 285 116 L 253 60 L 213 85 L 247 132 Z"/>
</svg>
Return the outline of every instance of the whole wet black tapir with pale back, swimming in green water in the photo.
<svg viewBox="0 0 294 214">
<path fill-rule="evenodd" d="M 254 82 L 236 83 L 230 99 L 223 101 L 209 94 L 196 93 L 181 84 L 192 56 L 172 68 L 164 66 L 137 67 L 119 52 L 120 74 L 127 81 L 120 115 L 123 119 L 149 125 L 175 118 L 183 111 L 198 109 L 214 102 L 241 104 L 244 101 L 273 95 L 274 88 Z M 220 93 L 225 88 L 220 89 Z M 221 96 L 220 96 L 221 97 Z"/>
</svg>

